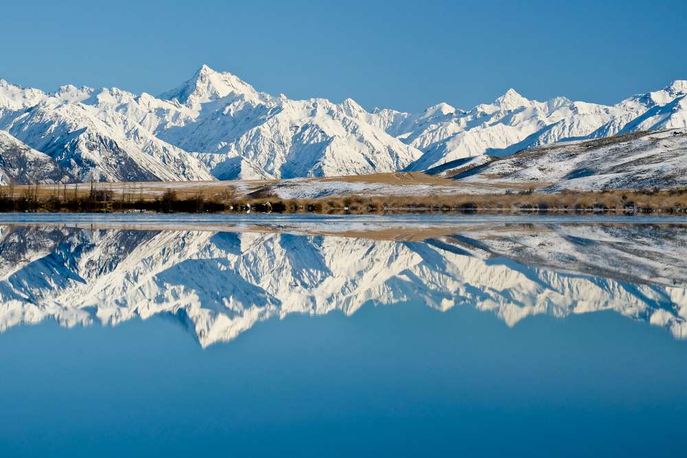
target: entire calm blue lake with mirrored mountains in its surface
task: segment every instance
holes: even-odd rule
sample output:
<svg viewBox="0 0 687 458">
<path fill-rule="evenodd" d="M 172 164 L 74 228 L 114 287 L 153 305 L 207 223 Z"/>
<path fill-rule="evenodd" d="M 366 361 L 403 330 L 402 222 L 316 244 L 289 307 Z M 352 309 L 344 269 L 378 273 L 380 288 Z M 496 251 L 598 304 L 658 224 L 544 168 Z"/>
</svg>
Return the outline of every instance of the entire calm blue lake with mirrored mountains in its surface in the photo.
<svg viewBox="0 0 687 458">
<path fill-rule="evenodd" d="M 684 456 L 687 220 L 0 216 L 0 456 Z"/>
</svg>

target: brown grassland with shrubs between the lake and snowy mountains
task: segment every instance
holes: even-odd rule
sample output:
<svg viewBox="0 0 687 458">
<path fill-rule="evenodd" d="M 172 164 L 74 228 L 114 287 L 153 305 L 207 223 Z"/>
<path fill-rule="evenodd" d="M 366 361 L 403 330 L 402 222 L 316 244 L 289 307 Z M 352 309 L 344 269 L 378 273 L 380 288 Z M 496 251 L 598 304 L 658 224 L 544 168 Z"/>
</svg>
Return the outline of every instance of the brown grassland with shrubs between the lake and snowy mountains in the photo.
<svg viewBox="0 0 687 458">
<path fill-rule="evenodd" d="M 396 180 L 383 177 L 347 177 L 351 180 Z M 338 178 L 341 180 L 341 178 Z M 325 179 L 328 180 L 328 179 Z M 398 180 L 431 181 L 449 179 L 425 174 L 401 174 Z M 231 183 L 231 182 L 228 182 Z M 544 193 L 534 189 L 506 190 L 489 194 L 436 194 L 427 196 L 332 196 L 312 199 L 282 199 L 271 195 L 274 181 L 242 182 L 233 185 L 183 183 L 80 183 L 78 185 L 16 185 L 0 187 L 0 211 L 159 211 L 221 212 L 265 211 L 324 214 L 411 213 L 478 211 L 510 212 L 611 212 L 667 213 L 687 211 L 687 188 L 667 190 L 609 190 L 602 192 Z M 144 184 L 146 184 L 144 186 Z M 455 181 L 453 182 L 455 186 Z"/>
</svg>

